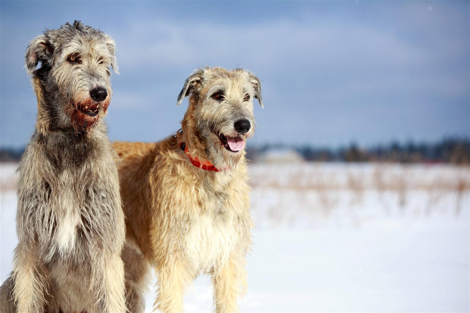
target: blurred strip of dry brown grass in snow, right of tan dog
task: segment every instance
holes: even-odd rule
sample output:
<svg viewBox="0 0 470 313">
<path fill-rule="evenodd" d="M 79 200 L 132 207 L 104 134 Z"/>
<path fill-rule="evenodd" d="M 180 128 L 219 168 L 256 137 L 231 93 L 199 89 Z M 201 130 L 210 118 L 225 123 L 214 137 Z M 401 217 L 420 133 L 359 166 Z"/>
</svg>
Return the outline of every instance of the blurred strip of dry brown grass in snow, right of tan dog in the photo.
<svg viewBox="0 0 470 313">
<path fill-rule="evenodd" d="M 469 209 L 464 203 L 470 193 L 468 166 L 305 163 L 256 165 L 250 173 L 254 191 L 274 191 L 278 203 L 270 218 L 275 220 L 291 214 L 286 211 L 289 204 L 280 203 L 283 193 L 295 194 L 302 211 L 315 216 L 321 212 L 324 217 L 339 207 L 362 210 L 374 204 L 386 214 L 398 209 L 402 214 L 452 211 L 458 216 Z M 371 204 L 369 195 L 378 201 Z"/>
</svg>

